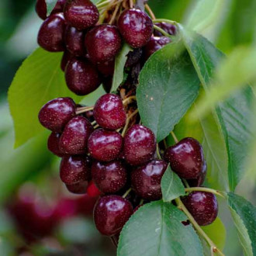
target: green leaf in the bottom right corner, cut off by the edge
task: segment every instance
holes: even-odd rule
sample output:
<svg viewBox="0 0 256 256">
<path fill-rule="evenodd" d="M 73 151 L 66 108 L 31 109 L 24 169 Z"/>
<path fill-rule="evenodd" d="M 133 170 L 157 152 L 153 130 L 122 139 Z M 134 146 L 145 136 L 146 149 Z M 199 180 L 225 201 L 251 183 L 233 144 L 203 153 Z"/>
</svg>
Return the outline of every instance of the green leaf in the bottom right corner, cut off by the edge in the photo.
<svg viewBox="0 0 256 256">
<path fill-rule="evenodd" d="M 227 199 L 244 255 L 256 255 L 256 207 L 232 192 L 227 194 Z"/>
</svg>

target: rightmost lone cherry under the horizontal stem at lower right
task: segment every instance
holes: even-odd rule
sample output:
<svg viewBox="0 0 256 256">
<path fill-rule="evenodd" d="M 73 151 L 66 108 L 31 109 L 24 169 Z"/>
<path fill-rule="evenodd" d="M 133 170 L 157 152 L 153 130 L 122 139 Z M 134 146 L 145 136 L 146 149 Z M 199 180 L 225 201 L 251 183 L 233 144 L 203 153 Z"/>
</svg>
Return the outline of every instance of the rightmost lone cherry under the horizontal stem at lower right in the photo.
<svg viewBox="0 0 256 256">
<path fill-rule="evenodd" d="M 212 193 L 195 191 L 184 196 L 182 202 L 200 226 L 213 223 L 218 215 L 218 202 Z"/>
</svg>

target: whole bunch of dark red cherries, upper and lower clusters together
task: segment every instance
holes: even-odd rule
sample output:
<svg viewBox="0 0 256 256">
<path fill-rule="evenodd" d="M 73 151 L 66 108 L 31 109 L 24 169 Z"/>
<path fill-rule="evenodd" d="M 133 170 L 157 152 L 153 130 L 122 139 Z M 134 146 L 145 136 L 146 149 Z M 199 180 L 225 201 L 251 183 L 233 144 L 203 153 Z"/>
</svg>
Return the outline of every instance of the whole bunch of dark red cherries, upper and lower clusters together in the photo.
<svg viewBox="0 0 256 256">
<path fill-rule="evenodd" d="M 161 199 L 161 178 L 168 164 L 187 186 L 199 187 L 206 177 L 206 161 L 197 140 L 177 141 L 161 156 L 161 144 L 140 124 L 137 110 L 140 69 L 154 51 L 171 42 L 162 33 L 174 35 L 175 26 L 164 22 L 153 26 L 144 10 L 133 8 L 133 1 L 99 2 L 99 9 L 104 7 L 100 16 L 88 0 L 58 1 L 49 17 L 41 2 L 37 12 L 47 19 L 38 43 L 45 50 L 64 51 L 61 67 L 67 86 L 78 95 L 94 91 L 101 83 L 109 92 L 123 40 L 133 47 L 125 66 L 128 82 L 116 94 L 102 95 L 92 107 L 57 98 L 39 113 L 40 123 L 52 131 L 49 150 L 62 157 L 62 182 L 74 193 L 101 194 L 94 209 L 95 226 L 102 234 L 115 236 L 139 206 Z M 182 201 L 199 225 L 216 219 L 218 206 L 212 193 L 194 191 Z"/>
</svg>

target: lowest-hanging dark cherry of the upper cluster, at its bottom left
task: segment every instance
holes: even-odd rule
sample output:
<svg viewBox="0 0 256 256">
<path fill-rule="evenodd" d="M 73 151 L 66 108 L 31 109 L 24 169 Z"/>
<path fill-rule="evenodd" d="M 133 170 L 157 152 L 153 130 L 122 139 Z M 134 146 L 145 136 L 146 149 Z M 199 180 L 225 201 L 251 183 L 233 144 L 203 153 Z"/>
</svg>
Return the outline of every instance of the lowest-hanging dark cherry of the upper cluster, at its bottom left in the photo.
<svg viewBox="0 0 256 256">
<path fill-rule="evenodd" d="M 88 95 L 101 84 L 99 73 L 88 61 L 73 57 L 65 70 L 67 87 L 77 95 Z"/>
</svg>

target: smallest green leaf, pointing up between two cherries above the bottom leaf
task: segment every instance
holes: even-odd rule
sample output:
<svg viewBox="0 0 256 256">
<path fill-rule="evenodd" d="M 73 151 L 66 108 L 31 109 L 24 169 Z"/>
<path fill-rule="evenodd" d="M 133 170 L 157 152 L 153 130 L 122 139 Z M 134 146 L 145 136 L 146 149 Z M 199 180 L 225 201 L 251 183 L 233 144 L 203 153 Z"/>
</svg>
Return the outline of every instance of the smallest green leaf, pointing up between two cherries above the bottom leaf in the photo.
<svg viewBox="0 0 256 256">
<path fill-rule="evenodd" d="M 176 199 L 178 196 L 185 195 L 181 179 L 174 171 L 171 171 L 170 166 L 168 166 L 161 179 L 161 190 L 164 202 L 171 202 L 171 200 Z"/>
</svg>

